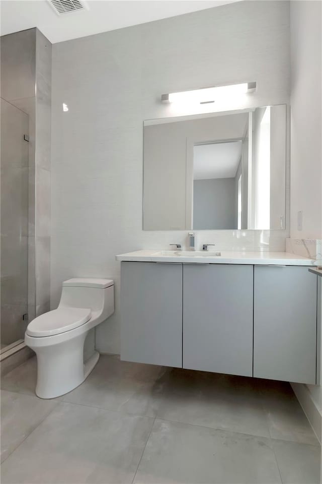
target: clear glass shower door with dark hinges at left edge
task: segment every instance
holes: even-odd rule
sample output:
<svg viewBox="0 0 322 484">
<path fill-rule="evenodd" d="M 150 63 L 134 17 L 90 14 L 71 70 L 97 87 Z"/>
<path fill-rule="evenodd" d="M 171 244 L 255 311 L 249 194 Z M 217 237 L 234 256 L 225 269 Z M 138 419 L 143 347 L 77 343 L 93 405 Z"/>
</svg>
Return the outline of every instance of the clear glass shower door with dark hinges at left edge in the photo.
<svg viewBox="0 0 322 484">
<path fill-rule="evenodd" d="M 28 312 L 28 114 L 1 99 L 1 349 L 24 338 Z"/>
</svg>

